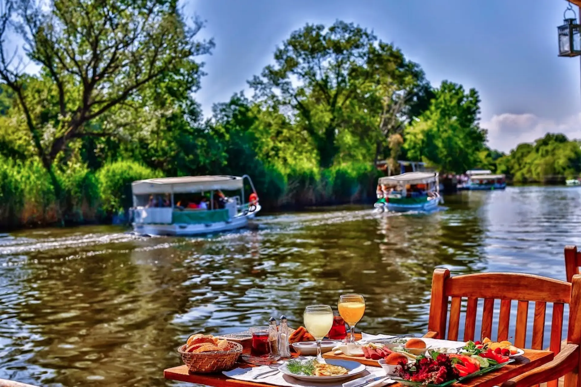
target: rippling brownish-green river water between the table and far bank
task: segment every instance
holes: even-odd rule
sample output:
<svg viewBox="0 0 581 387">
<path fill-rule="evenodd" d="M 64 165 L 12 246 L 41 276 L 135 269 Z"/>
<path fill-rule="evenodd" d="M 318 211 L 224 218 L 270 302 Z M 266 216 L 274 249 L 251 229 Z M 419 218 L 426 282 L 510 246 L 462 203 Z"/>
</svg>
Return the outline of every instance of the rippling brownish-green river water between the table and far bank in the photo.
<svg viewBox="0 0 581 387">
<path fill-rule="evenodd" d="M 565 279 L 563 247 L 581 244 L 581 189 L 445 199 L 446 211 L 431 215 L 320 208 L 199 238 L 113 226 L 0 238 L 0 378 L 174 386 L 163 370 L 181 364 L 176 348 L 193 332 L 241 331 L 281 314 L 298 326 L 306 305 L 357 292 L 367 302 L 358 327 L 420 333 L 435 267 Z"/>
</svg>

